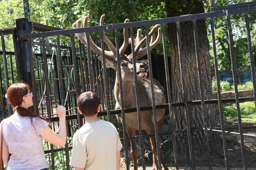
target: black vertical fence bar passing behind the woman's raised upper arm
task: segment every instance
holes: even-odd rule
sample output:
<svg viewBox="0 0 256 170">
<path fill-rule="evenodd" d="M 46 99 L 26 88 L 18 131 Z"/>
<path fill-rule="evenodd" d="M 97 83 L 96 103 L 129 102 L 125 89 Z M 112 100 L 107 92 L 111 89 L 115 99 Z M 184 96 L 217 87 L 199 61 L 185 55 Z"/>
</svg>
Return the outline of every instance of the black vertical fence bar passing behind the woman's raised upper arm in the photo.
<svg viewBox="0 0 256 170">
<path fill-rule="evenodd" d="M 42 96 L 42 97 L 46 97 L 46 101 L 47 101 L 47 113 L 48 113 L 48 118 L 49 121 L 52 122 L 52 114 L 51 114 L 51 99 L 50 99 L 50 85 L 49 85 L 49 77 L 48 77 L 48 62 L 47 62 L 47 57 L 46 57 L 46 49 L 45 49 L 45 39 L 44 37 L 42 38 L 43 41 L 43 45 L 42 45 L 42 49 L 43 49 L 43 58 L 44 58 L 44 73 L 45 73 L 45 87 L 46 87 L 46 96 Z M 54 152 L 53 152 L 53 145 L 50 144 L 50 148 L 51 148 L 51 165 L 52 165 L 52 170 L 55 170 L 55 163 L 54 163 Z"/>
</svg>

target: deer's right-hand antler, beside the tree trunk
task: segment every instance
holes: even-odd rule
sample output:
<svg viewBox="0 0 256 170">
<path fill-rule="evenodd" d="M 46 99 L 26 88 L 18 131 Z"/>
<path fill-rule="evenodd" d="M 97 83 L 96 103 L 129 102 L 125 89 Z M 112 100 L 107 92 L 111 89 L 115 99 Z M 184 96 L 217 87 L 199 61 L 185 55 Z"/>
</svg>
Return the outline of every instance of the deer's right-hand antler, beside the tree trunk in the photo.
<svg viewBox="0 0 256 170">
<path fill-rule="evenodd" d="M 149 49 L 151 50 L 152 48 L 154 48 L 161 39 L 161 28 L 159 28 L 160 25 L 155 25 L 151 31 L 148 33 L 148 37 L 151 37 L 150 43 L 149 43 Z M 158 29 L 158 33 L 157 33 L 157 39 L 154 40 L 154 33 L 157 31 Z M 131 40 L 129 40 L 129 42 L 131 43 Z M 140 59 L 141 57 L 145 56 L 145 54 L 147 54 L 147 47 L 145 48 L 141 48 L 146 42 L 146 37 L 143 38 L 143 36 L 141 35 L 141 30 L 138 29 L 137 30 L 137 37 L 136 39 L 134 39 L 134 45 L 135 45 L 135 56 L 136 59 Z M 128 56 L 129 59 L 132 59 L 132 55 Z"/>
</svg>

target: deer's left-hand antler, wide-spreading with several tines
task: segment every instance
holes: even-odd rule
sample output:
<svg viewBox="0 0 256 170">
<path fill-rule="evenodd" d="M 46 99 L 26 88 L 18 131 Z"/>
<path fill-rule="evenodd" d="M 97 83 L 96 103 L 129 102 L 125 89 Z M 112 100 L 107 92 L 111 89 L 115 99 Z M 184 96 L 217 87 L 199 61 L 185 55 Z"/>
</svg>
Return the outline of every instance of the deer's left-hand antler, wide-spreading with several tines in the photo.
<svg viewBox="0 0 256 170">
<path fill-rule="evenodd" d="M 100 17 L 100 23 L 99 23 L 100 26 L 103 25 L 104 17 L 105 17 L 105 14 L 103 14 Z M 73 23 L 73 28 L 81 28 L 81 22 L 82 22 L 81 20 L 77 20 L 75 23 Z M 126 19 L 125 23 L 128 23 L 128 22 L 129 22 L 129 19 Z M 87 26 L 88 26 L 88 16 L 84 17 L 84 27 L 87 27 Z M 75 35 L 76 35 L 76 37 L 78 37 L 78 39 L 81 42 L 83 42 L 85 45 L 87 45 L 86 34 L 89 34 L 89 33 L 77 33 Z M 109 49 L 111 50 L 111 51 L 104 50 L 105 57 L 108 57 L 111 59 L 116 59 L 116 48 L 113 45 L 113 43 L 106 37 L 104 31 L 103 31 L 103 40 L 108 45 Z M 93 42 L 90 34 L 89 34 L 89 43 L 90 43 L 90 49 L 92 51 L 94 51 L 96 54 L 102 55 L 102 48 L 98 47 Z M 128 28 L 124 28 L 124 42 L 123 42 L 121 48 L 119 49 L 120 56 L 123 58 L 124 57 L 126 58 L 126 55 L 124 54 L 124 52 L 125 52 L 127 46 L 128 46 Z"/>
</svg>

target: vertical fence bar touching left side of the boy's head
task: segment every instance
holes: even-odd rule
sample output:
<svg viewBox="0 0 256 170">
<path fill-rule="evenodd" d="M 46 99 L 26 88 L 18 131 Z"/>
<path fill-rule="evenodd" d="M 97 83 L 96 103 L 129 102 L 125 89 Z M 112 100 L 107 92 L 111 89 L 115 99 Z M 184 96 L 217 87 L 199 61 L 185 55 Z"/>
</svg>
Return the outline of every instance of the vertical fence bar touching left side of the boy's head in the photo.
<svg viewBox="0 0 256 170">
<path fill-rule="evenodd" d="M 75 46 L 75 40 L 74 35 L 70 34 L 70 40 L 71 40 L 71 48 L 72 48 L 72 59 L 73 59 L 73 69 L 74 69 L 74 80 L 75 80 L 75 90 L 76 90 L 76 99 L 81 94 L 80 85 L 79 85 L 79 72 L 77 68 L 77 58 L 76 58 L 76 46 Z M 75 101 L 76 101 L 75 99 Z M 77 121 L 78 121 L 78 127 L 81 127 L 81 117 L 80 114 L 77 113 L 77 110 L 75 111 L 77 115 Z"/>
</svg>

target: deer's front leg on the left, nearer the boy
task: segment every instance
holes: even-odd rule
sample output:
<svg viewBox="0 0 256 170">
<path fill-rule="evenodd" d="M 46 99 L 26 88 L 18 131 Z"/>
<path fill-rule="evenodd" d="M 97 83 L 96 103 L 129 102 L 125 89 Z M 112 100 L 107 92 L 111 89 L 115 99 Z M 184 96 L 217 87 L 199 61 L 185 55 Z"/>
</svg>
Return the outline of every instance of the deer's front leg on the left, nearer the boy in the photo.
<svg viewBox="0 0 256 170">
<path fill-rule="evenodd" d="M 136 135 L 136 131 L 132 130 L 129 127 L 126 127 L 128 136 L 135 136 Z M 131 157 L 134 163 L 134 170 L 138 170 L 138 164 L 137 164 L 137 147 L 136 147 L 136 139 L 132 139 L 130 140 L 131 143 Z"/>
</svg>

